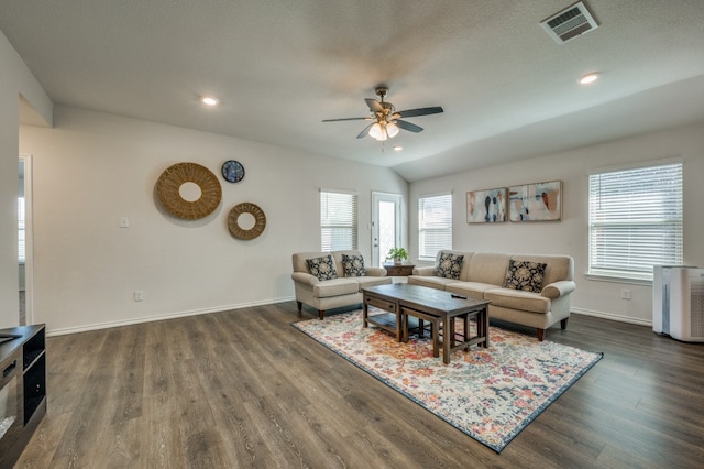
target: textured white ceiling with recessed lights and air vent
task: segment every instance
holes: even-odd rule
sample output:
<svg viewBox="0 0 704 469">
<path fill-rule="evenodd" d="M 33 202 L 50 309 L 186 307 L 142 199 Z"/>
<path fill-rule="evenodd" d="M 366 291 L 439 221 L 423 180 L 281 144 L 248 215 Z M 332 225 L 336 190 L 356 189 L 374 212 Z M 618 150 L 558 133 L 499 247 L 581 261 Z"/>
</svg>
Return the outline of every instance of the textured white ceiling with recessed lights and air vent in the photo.
<svg viewBox="0 0 704 469">
<path fill-rule="evenodd" d="M 559 45 L 539 23 L 571 3 L 0 0 L 0 31 L 55 103 L 408 181 L 704 121 L 704 1 L 588 0 L 600 28 Z M 425 131 L 384 152 L 355 139 L 363 121 L 321 122 L 366 116 L 380 84 L 397 109 L 444 113 L 409 118 Z"/>
</svg>

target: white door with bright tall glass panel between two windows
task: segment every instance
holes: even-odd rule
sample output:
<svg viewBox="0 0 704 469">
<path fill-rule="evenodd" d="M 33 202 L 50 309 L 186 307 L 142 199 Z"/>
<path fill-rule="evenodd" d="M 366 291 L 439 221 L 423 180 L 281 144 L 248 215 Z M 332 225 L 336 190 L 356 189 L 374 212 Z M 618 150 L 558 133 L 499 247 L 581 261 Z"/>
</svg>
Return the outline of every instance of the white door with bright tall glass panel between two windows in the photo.
<svg viewBox="0 0 704 469">
<path fill-rule="evenodd" d="M 386 253 L 400 247 L 399 194 L 372 193 L 372 265 L 381 266 Z"/>
</svg>

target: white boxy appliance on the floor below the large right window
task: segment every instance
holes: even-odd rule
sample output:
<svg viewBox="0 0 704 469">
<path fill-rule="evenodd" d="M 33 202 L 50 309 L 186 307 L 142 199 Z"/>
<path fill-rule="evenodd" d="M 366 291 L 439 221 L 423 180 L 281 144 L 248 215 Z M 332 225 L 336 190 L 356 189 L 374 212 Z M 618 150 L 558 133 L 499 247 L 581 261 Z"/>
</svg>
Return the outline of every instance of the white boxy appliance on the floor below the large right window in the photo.
<svg viewBox="0 0 704 469">
<path fill-rule="evenodd" d="M 685 342 L 704 342 L 704 269 L 653 266 L 652 330 Z"/>
</svg>

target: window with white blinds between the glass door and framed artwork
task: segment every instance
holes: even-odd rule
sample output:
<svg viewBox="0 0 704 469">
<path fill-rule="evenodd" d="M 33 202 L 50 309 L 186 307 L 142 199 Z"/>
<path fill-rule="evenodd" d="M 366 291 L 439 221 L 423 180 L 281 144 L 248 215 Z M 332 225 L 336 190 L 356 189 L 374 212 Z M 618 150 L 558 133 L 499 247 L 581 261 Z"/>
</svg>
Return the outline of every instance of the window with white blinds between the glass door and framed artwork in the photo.
<svg viewBox="0 0 704 469">
<path fill-rule="evenodd" d="M 420 197 L 418 258 L 432 261 L 442 249 L 452 249 L 452 194 Z"/>
</svg>

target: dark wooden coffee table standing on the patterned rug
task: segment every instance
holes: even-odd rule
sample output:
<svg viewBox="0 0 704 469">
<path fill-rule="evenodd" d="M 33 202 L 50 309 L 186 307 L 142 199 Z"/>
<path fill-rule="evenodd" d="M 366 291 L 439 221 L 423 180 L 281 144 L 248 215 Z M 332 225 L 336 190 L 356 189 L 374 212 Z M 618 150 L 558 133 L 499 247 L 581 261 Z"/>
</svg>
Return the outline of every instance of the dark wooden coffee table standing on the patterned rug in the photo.
<svg viewBox="0 0 704 469">
<path fill-rule="evenodd" d="M 453 297 L 450 292 L 428 288 L 407 283 L 369 286 L 362 288 L 363 327 L 373 324 L 396 335 L 396 340 L 408 341 L 409 317 L 418 319 L 419 327 L 428 321 L 431 325 L 432 355 L 439 357 L 440 334 L 442 325 L 442 361 L 450 363 L 450 356 L 455 350 L 469 350 L 473 345 L 487 348 L 490 302 Z M 369 306 L 389 312 L 388 314 L 369 315 Z M 457 318 L 464 321 L 462 340 L 454 334 Z M 470 337 L 469 321 L 476 318 L 476 336 Z M 421 330 L 422 334 L 422 330 Z"/>
</svg>

